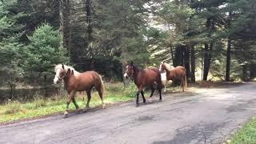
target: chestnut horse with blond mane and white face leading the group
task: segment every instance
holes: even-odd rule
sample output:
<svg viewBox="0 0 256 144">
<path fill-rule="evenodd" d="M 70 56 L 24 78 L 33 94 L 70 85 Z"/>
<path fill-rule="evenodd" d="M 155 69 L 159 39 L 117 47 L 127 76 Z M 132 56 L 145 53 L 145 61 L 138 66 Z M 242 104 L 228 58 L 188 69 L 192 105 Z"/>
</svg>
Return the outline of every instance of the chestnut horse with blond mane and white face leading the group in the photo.
<svg viewBox="0 0 256 144">
<path fill-rule="evenodd" d="M 74 103 L 75 108 L 78 110 L 79 106 L 74 99 L 74 95 L 77 91 L 86 91 L 87 95 L 87 103 L 86 110 L 89 109 L 91 94 L 90 91 L 93 87 L 98 91 L 98 95 L 102 100 L 102 109 L 104 108 L 103 102 L 103 93 L 104 93 L 104 85 L 102 81 L 101 75 L 99 75 L 95 71 L 86 71 L 83 73 L 79 73 L 77 70 L 74 70 L 71 66 L 66 66 L 63 64 L 59 64 L 54 67 L 55 77 L 54 84 L 57 82 L 64 80 L 64 86 L 68 92 L 68 98 L 66 102 L 66 111 L 64 112 L 64 118 L 68 117 L 68 110 L 70 106 L 70 102 Z M 86 110 L 83 110 L 84 112 Z"/>
</svg>

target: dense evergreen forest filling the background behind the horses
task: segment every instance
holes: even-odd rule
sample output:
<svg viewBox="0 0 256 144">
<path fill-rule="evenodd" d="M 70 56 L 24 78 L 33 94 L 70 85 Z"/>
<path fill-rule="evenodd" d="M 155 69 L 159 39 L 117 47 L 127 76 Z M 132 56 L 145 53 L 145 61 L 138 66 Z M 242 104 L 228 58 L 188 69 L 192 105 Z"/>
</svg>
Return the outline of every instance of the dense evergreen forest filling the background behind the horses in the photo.
<svg viewBox="0 0 256 144">
<path fill-rule="evenodd" d="M 120 82 L 130 61 L 185 66 L 191 83 L 250 81 L 255 39 L 255 0 L 1 0 L 0 86 L 10 98 L 51 87 L 59 63 Z"/>
</svg>

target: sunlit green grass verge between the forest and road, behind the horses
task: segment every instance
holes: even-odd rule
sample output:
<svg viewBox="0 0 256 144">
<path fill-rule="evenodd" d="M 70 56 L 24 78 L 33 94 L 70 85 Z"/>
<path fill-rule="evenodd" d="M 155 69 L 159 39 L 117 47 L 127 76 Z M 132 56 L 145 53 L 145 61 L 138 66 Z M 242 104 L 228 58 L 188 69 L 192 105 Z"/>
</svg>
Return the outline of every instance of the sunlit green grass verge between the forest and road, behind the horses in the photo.
<svg viewBox="0 0 256 144">
<path fill-rule="evenodd" d="M 137 88 L 134 84 L 123 88 L 120 83 L 107 83 L 104 96 L 106 104 L 115 102 L 126 102 L 134 99 Z M 148 94 L 147 94 L 148 95 Z M 84 100 L 83 100 L 84 99 Z M 76 100 L 80 108 L 86 106 L 86 94 L 77 94 Z M 101 105 L 97 92 L 92 93 L 90 107 Z M 74 110 L 74 104 L 70 103 L 70 110 Z M 54 98 L 34 98 L 32 102 L 8 101 L 6 104 L 0 105 L 0 123 L 12 122 L 25 118 L 35 118 L 54 113 L 61 113 L 66 110 L 66 95 Z"/>
</svg>

